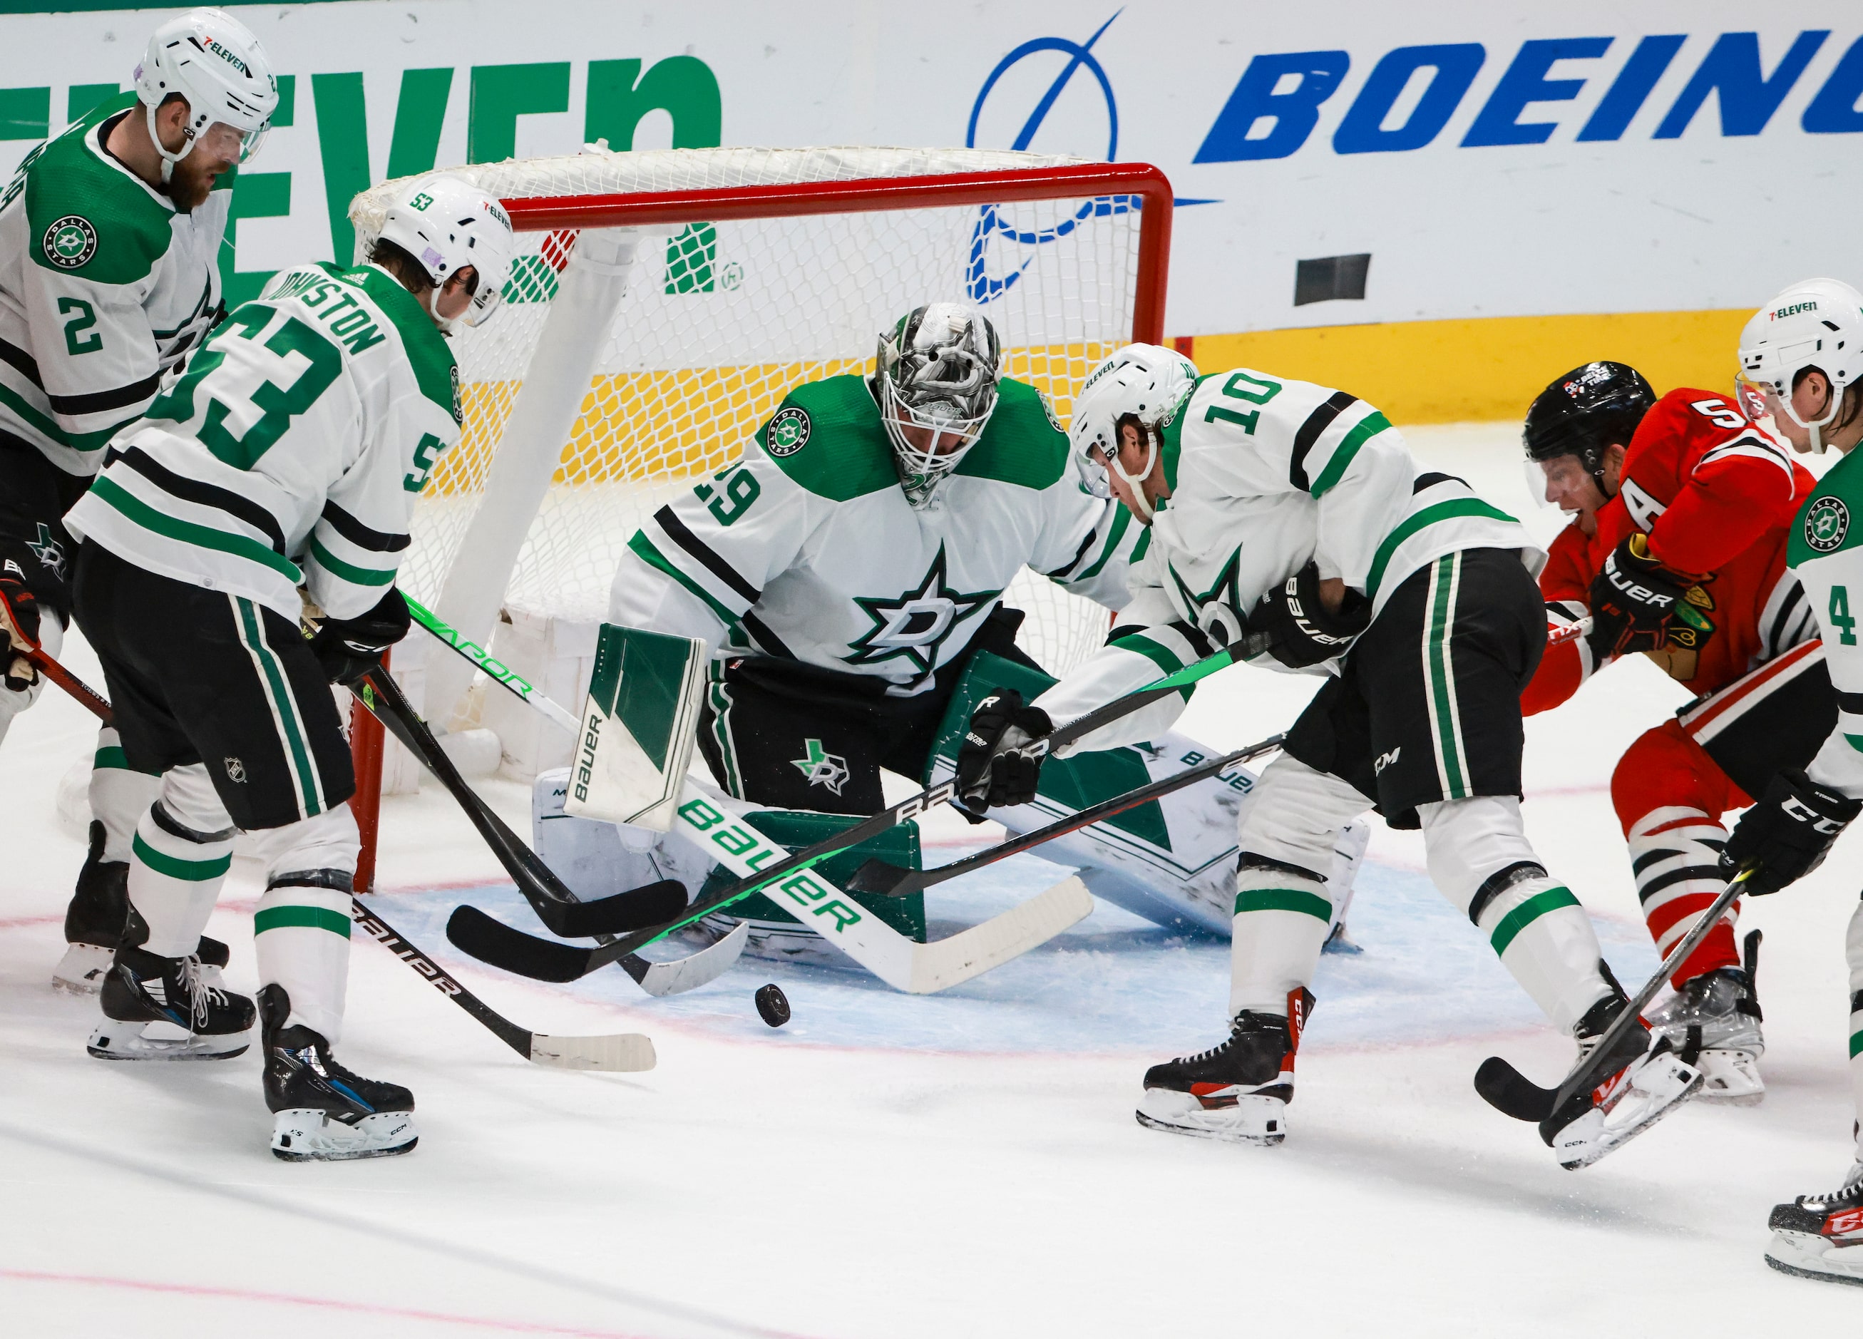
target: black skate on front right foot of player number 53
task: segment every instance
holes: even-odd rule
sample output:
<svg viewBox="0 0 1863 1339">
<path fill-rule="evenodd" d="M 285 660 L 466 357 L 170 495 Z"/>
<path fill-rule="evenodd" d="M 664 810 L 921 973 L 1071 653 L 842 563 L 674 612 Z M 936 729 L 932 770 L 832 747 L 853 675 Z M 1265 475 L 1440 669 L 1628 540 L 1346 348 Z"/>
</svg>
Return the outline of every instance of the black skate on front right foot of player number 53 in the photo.
<svg viewBox="0 0 1863 1339">
<path fill-rule="evenodd" d="M 352 1075 L 335 1062 L 322 1035 L 302 1022 L 287 1028 L 289 1017 L 285 987 L 259 991 L 272 1153 L 285 1162 L 345 1162 L 414 1149 L 419 1142 L 414 1093 L 401 1084 Z"/>
</svg>

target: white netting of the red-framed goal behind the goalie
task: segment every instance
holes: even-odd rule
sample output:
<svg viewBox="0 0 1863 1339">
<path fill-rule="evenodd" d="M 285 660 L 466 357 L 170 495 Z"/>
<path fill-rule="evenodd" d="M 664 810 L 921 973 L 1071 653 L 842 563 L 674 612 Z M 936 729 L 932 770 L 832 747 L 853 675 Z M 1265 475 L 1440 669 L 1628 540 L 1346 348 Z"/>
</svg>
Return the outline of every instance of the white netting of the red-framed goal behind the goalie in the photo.
<svg viewBox="0 0 1863 1339">
<path fill-rule="evenodd" d="M 455 171 L 503 199 L 537 199 L 1073 162 L 971 149 L 591 149 Z M 395 186 L 356 197 L 358 259 L 373 246 Z M 794 385 L 868 369 L 877 333 L 935 298 L 980 304 L 1008 350 L 1006 374 L 1043 389 L 1066 423 L 1086 372 L 1131 339 L 1138 231 L 1138 201 L 1122 196 L 691 218 L 641 229 L 632 268 L 566 345 L 561 322 L 570 317 L 555 317 L 555 343 L 546 348 L 581 350 L 592 371 L 587 382 L 578 372 L 551 391 L 564 400 L 566 426 L 544 430 L 537 458 L 548 488 L 538 477 L 531 492 L 510 484 L 503 462 L 494 477 L 492 464 L 501 451 L 518 451 L 507 426 L 520 391 L 548 380 L 542 363 L 533 369 L 533 354 L 553 311 L 574 305 L 555 300 L 578 274 L 579 235 L 520 233 L 505 307 L 455 343 L 466 430 L 419 503 L 402 587 L 445 615 L 449 574 L 477 564 L 473 583 L 496 585 L 510 611 L 600 620 L 615 564 L 645 516 L 734 462 Z M 592 255 L 594 244 L 583 250 Z M 578 387 L 581 402 L 570 406 Z M 535 410 L 525 406 L 533 419 Z M 496 553 L 501 533 L 505 557 Z M 1105 637 L 1103 609 L 1034 574 L 1017 577 L 1004 602 L 1028 611 L 1021 641 L 1051 672 Z M 460 616 L 456 596 L 453 603 Z M 469 635 L 488 631 L 469 618 L 460 626 Z"/>
</svg>

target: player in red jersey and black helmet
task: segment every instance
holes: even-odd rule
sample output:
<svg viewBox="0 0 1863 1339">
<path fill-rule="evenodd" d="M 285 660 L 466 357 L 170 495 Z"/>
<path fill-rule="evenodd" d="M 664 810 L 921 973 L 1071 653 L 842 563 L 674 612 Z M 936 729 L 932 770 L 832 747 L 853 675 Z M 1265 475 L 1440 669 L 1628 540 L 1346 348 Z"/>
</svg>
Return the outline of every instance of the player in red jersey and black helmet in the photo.
<svg viewBox="0 0 1863 1339">
<path fill-rule="evenodd" d="M 1727 829 L 1781 767 L 1802 767 L 1837 719 L 1816 622 L 1785 570 L 1813 479 L 1729 397 L 1660 400 L 1634 369 L 1587 363 L 1528 410 L 1528 477 L 1574 520 L 1541 574 L 1546 618 L 1591 616 L 1550 646 L 1522 706 L 1546 711 L 1611 659 L 1645 654 L 1695 700 L 1647 730 L 1611 775 L 1643 918 L 1664 954 L 1725 886 Z M 1707 1075 L 1701 1095 L 1751 1104 L 1761 1011 L 1734 946 L 1738 905 L 1651 1011 Z"/>
</svg>

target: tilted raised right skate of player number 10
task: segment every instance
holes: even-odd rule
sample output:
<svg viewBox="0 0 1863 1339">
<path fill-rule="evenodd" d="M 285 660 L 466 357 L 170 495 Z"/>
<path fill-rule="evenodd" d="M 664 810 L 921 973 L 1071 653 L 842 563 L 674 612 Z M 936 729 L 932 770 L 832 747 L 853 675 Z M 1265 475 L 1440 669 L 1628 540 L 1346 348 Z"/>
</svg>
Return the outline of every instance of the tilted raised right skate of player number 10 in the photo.
<svg viewBox="0 0 1863 1339">
<path fill-rule="evenodd" d="M 1580 1058 L 1589 1056 L 1628 1000 L 1611 993 L 1598 1000 L 1572 1028 Z M 1667 1037 L 1651 1035 L 1641 1022 L 1611 1047 L 1613 1069 L 1597 1088 L 1578 1093 L 1539 1123 L 1539 1136 L 1569 1171 L 1589 1168 L 1634 1140 L 1701 1088 L 1701 1071 L 1669 1048 Z"/>
</svg>

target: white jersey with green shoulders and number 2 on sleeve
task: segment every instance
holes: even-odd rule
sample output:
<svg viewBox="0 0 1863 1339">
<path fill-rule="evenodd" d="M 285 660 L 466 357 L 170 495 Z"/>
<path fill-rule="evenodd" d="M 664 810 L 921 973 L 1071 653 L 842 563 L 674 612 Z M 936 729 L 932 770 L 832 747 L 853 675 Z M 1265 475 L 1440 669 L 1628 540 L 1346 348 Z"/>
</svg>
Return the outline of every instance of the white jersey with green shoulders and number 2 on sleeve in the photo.
<svg viewBox="0 0 1863 1339">
<path fill-rule="evenodd" d="M 233 192 L 181 212 L 114 158 L 104 140 L 138 106 L 104 101 L 34 149 L 0 197 L 0 432 L 73 475 L 97 471 L 220 307 Z"/>
</svg>

